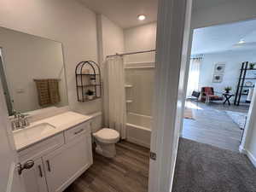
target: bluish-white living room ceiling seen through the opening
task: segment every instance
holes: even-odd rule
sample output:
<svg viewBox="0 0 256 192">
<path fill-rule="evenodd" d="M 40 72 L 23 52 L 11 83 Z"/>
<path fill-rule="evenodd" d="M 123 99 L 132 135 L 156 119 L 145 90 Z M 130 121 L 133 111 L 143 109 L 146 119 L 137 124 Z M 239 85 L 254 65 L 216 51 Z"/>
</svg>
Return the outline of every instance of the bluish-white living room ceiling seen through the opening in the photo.
<svg viewBox="0 0 256 192">
<path fill-rule="evenodd" d="M 245 44 L 238 44 L 243 39 Z M 255 49 L 256 20 L 195 29 L 192 55 Z"/>
</svg>

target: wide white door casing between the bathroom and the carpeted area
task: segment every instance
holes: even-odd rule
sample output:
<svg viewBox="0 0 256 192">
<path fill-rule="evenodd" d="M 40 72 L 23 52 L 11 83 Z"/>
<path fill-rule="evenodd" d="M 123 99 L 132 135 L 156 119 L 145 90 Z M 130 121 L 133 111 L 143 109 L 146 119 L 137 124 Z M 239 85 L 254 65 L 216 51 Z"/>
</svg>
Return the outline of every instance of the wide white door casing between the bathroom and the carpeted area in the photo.
<svg viewBox="0 0 256 192">
<path fill-rule="evenodd" d="M 149 192 L 169 192 L 183 119 L 192 0 L 160 0 Z"/>
</svg>

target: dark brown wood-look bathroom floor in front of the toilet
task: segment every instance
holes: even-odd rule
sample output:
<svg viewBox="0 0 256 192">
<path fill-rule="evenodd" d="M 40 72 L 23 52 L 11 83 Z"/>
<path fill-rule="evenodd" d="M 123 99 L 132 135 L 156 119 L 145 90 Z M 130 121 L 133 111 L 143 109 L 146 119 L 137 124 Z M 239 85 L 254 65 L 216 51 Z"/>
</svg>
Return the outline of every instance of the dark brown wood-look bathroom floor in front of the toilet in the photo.
<svg viewBox="0 0 256 192">
<path fill-rule="evenodd" d="M 64 192 L 147 192 L 149 149 L 125 141 L 108 159 L 93 154 L 93 165 Z"/>
</svg>

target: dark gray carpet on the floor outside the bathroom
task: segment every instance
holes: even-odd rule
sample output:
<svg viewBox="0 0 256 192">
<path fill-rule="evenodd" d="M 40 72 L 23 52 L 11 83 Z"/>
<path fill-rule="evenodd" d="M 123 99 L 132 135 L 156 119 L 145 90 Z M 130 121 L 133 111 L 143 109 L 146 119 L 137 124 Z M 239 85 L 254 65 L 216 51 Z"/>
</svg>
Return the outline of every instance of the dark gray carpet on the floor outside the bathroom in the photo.
<svg viewBox="0 0 256 192">
<path fill-rule="evenodd" d="M 243 154 L 181 138 L 172 192 L 256 192 L 256 168 Z"/>
</svg>

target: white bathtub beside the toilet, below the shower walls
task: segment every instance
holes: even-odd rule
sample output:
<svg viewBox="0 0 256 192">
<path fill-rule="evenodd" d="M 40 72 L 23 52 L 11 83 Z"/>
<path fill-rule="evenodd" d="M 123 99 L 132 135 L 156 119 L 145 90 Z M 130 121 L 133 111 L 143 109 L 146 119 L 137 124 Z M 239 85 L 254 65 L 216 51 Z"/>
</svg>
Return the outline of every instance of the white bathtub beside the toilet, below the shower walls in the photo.
<svg viewBox="0 0 256 192">
<path fill-rule="evenodd" d="M 150 148 L 151 123 L 151 116 L 138 113 L 127 113 L 127 141 Z"/>
</svg>

